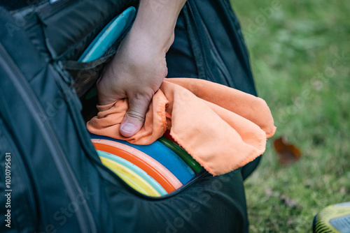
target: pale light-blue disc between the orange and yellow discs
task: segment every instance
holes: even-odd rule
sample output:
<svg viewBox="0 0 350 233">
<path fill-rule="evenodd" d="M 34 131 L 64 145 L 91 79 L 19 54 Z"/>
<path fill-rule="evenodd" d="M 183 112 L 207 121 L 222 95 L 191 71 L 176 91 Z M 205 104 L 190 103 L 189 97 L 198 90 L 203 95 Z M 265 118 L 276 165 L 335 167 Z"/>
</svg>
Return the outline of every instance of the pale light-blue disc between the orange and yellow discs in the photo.
<svg viewBox="0 0 350 233">
<path fill-rule="evenodd" d="M 153 179 L 150 175 L 148 175 L 147 172 L 145 172 L 144 170 L 141 170 L 140 167 L 137 167 L 137 165 L 134 165 L 130 163 L 128 160 L 125 160 L 124 158 L 120 158 L 118 155 L 114 155 L 112 153 L 108 153 L 105 151 L 98 151 L 98 150 L 97 150 L 97 153 L 99 154 L 99 156 L 102 156 L 104 158 L 109 158 L 110 160 L 113 160 L 116 163 L 120 163 L 121 165 L 124 165 L 125 167 L 132 170 L 133 172 L 141 176 L 153 188 L 155 188 L 155 190 L 157 190 L 160 195 L 167 194 L 167 191 L 160 185 L 160 183 L 155 181 L 155 179 Z"/>
</svg>

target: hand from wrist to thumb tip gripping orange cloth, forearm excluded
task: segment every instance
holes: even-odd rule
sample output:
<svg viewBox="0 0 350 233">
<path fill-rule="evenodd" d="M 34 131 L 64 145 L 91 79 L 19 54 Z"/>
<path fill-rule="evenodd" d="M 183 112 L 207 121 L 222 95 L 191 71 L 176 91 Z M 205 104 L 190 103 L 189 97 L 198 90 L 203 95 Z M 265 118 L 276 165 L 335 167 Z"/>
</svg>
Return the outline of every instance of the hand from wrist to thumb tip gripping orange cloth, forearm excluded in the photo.
<svg viewBox="0 0 350 233">
<path fill-rule="evenodd" d="M 129 110 L 120 126 L 123 136 L 131 137 L 143 126 L 153 94 L 167 76 L 165 54 L 173 41 L 174 33 L 160 46 L 153 38 L 130 31 L 98 80 L 99 105 L 128 98 Z"/>
</svg>

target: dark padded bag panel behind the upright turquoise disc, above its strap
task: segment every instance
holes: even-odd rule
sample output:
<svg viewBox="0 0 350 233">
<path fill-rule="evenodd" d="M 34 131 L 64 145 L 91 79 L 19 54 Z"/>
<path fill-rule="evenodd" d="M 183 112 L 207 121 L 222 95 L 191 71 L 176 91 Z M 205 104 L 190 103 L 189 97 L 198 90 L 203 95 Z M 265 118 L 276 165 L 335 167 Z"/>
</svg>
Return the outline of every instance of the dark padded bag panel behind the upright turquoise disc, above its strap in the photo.
<svg viewBox="0 0 350 233">
<path fill-rule="evenodd" d="M 18 22 L 13 30 L 23 27 L 32 43 L 50 59 L 75 61 L 113 17 L 138 5 L 139 0 L 45 1 L 13 12 Z"/>
</svg>

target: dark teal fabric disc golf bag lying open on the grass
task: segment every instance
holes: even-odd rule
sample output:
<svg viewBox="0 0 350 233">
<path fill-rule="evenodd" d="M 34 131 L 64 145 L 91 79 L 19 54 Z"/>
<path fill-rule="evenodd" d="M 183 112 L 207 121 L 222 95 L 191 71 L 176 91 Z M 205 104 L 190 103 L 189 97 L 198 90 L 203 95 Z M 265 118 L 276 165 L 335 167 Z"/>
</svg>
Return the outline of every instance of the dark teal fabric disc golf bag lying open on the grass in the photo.
<svg viewBox="0 0 350 233">
<path fill-rule="evenodd" d="M 125 33 L 101 59 L 77 59 L 113 17 L 138 4 L 60 0 L 0 8 L 0 232 L 247 231 L 244 170 L 256 161 L 221 176 L 200 172 L 172 193 L 148 197 L 97 156 L 83 119 L 96 98 L 84 98 Z M 230 2 L 189 0 L 181 20 L 176 30 L 181 38 L 185 27 L 188 50 L 176 39 L 169 75 L 255 94 Z M 188 51 L 194 65 L 181 70 Z"/>
</svg>

